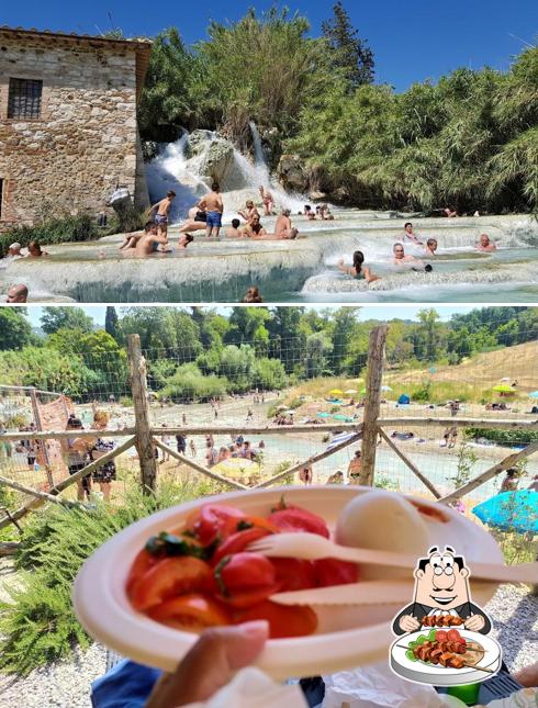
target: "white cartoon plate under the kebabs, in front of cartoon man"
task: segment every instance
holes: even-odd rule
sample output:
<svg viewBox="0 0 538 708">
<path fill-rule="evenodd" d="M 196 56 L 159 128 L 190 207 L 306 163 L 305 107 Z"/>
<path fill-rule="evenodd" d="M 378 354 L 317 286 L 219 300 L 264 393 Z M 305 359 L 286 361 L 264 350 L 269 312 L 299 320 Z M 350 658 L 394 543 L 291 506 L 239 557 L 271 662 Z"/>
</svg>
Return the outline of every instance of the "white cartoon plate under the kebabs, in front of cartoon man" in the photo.
<svg viewBox="0 0 538 708">
<path fill-rule="evenodd" d="M 459 630 L 458 630 L 459 631 Z M 466 666 L 464 668 L 449 668 L 445 666 L 435 666 L 434 664 L 424 664 L 419 661 L 411 661 L 405 655 L 406 649 L 400 644 L 408 645 L 410 642 L 416 640 L 421 634 L 427 634 L 429 630 L 419 630 L 411 634 L 403 634 L 399 637 L 391 647 L 391 666 L 392 670 L 410 681 L 418 683 L 429 683 L 433 686 L 461 686 L 464 684 L 478 684 L 481 681 L 486 681 L 492 677 L 492 674 L 485 671 L 479 671 L 473 666 Z M 471 632 L 467 629 L 460 631 L 461 637 L 467 640 L 473 640 L 482 644 L 485 650 L 483 658 L 479 661 L 477 666 L 497 671 L 501 664 L 501 647 L 497 642 L 487 634 L 480 632 Z"/>
</svg>

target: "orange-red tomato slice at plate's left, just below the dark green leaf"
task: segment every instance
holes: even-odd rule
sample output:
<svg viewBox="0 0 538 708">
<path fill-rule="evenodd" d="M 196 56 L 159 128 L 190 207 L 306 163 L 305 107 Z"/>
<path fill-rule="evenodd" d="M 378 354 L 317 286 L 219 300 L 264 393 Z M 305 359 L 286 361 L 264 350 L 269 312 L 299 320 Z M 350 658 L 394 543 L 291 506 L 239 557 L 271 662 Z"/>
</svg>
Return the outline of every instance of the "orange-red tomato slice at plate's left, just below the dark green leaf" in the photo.
<svg viewBox="0 0 538 708">
<path fill-rule="evenodd" d="M 145 610 L 184 593 L 203 591 L 211 582 L 211 566 L 191 555 L 166 558 L 150 567 L 134 585 L 131 602 Z"/>
</svg>

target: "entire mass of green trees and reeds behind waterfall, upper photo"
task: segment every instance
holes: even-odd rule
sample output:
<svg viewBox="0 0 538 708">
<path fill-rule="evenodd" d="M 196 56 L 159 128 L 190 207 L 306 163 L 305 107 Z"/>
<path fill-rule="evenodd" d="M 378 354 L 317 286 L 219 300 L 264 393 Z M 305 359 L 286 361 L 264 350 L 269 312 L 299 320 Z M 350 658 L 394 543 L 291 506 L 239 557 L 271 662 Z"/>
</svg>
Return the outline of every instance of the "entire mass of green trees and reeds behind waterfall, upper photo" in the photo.
<svg viewBox="0 0 538 708">
<path fill-rule="evenodd" d="M 340 2 L 318 36 L 276 7 L 206 32 L 193 47 L 175 27 L 155 38 L 143 138 L 203 127 L 245 149 L 255 121 L 272 164 L 299 154 L 311 188 L 334 200 L 426 212 L 536 209 L 538 47 L 506 72 L 460 68 L 395 93 L 372 83 L 372 52 Z"/>
</svg>

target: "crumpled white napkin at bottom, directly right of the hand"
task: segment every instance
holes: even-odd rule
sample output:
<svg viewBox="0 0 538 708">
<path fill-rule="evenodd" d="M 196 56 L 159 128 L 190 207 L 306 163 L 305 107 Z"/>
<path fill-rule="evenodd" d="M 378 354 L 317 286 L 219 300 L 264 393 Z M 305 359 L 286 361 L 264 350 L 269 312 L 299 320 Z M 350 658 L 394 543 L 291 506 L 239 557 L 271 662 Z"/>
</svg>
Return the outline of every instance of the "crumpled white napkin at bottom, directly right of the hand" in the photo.
<svg viewBox="0 0 538 708">
<path fill-rule="evenodd" d="M 233 681 L 208 701 L 186 708 L 309 708 L 298 684 L 282 686 L 259 668 L 242 668 Z"/>
</svg>

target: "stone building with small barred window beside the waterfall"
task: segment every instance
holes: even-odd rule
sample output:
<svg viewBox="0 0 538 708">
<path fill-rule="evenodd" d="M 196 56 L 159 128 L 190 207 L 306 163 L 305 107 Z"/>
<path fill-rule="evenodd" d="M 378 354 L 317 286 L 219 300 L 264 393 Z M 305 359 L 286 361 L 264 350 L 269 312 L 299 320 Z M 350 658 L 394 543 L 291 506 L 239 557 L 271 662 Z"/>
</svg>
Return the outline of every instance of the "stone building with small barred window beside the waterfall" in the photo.
<svg viewBox="0 0 538 708">
<path fill-rule="evenodd" d="M 0 232 L 147 188 L 136 104 L 152 43 L 0 26 Z"/>
</svg>

